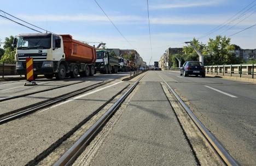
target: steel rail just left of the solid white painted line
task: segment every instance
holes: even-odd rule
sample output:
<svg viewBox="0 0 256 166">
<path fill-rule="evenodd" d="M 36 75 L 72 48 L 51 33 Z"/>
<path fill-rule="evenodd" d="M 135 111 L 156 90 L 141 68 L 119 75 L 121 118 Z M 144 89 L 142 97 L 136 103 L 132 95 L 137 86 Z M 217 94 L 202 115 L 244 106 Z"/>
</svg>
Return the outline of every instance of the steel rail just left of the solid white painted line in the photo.
<svg viewBox="0 0 256 166">
<path fill-rule="evenodd" d="M 8 121 L 21 118 L 22 116 L 34 113 L 37 110 L 40 110 L 40 109 L 43 109 L 43 108 L 47 108 L 49 106 L 53 106 L 54 104 L 59 103 L 61 101 L 65 101 L 67 99 L 71 99 L 74 96 L 77 96 L 79 94 L 85 93 L 86 91 L 95 89 L 97 87 L 100 87 L 100 86 L 102 86 L 104 84 L 107 84 L 107 83 L 110 83 L 112 81 L 114 81 L 114 80 L 104 81 L 104 82 L 92 84 L 92 85 L 90 85 L 88 87 L 85 87 L 85 88 L 82 88 L 82 89 L 78 89 L 78 90 L 72 91 L 70 93 L 54 97 L 53 99 L 41 101 L 41 102 L 38 102 L 38 103 L 35 103 L 35 104 L 31 104 L 30 106 L 26 106 L 26 107 L 23 107 L 23 108 L 20 108 L 20 109 L 16 109 L 16 110 L 13 110 L 11 112 L 2 114 L 2 115 L 0 115 L 0 117 L 2 116 L 0 118 L 0 125 L 6 123 Z"/>
</svg>

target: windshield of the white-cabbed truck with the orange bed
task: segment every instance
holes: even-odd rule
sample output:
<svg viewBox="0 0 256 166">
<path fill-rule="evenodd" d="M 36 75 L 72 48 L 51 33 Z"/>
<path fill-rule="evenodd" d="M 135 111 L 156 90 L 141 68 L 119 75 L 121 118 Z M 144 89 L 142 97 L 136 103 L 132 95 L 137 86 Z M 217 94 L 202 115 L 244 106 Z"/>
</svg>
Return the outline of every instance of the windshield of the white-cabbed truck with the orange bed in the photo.
<svg viewBox="0 0 256 166">
<path fill-rule="evenodd" d="M 51 36 L 19 36 L 18 50 L 49 49 Z"/>
</svg>

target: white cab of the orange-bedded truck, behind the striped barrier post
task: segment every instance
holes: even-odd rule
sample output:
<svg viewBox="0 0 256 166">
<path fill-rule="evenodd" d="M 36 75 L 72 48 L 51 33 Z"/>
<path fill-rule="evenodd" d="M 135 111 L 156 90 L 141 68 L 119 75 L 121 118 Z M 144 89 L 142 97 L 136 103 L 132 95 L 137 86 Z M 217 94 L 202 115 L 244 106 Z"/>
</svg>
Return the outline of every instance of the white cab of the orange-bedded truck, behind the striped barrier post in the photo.
<svg viewBox="0 0 256 166">
<path fill-rule="evenodd" d="M 26 74 L 26 58 L 33 58 L 34 75 L 53 75 L 65 60 L 62 37 L 51 33 L 20 34 L 16 45 L 16 71 Z"/>
</svg>

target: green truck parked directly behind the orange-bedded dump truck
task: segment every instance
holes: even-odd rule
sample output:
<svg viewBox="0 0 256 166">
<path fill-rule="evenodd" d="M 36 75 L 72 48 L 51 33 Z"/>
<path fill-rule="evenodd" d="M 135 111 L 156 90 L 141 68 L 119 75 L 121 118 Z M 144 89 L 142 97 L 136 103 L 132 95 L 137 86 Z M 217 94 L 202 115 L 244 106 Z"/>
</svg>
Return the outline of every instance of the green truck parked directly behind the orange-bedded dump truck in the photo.
<svg viewBox="0 0 256 166">
<path fill-rule="evenodd" d="M 97 50 L 97 59 L 95 63 L 95 71 L 101 73 L 117 73 L 118 58 L 110 56 L 106 50 Z"/>
</svg>

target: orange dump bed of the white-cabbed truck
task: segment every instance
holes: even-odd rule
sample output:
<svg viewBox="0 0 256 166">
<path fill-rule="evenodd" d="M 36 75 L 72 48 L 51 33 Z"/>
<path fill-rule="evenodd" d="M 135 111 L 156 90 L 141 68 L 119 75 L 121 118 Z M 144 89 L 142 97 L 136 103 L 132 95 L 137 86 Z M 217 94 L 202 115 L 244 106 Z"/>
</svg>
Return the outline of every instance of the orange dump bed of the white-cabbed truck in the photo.
<svg viewBox="0 0 256 166">
<path fill-rule="evenodd" d="M 64 53 L 67 61 L 80 63 L 95 63 L 96 48 L 72 39 L 71 35 L 61 35 Z"/>
</svg>

